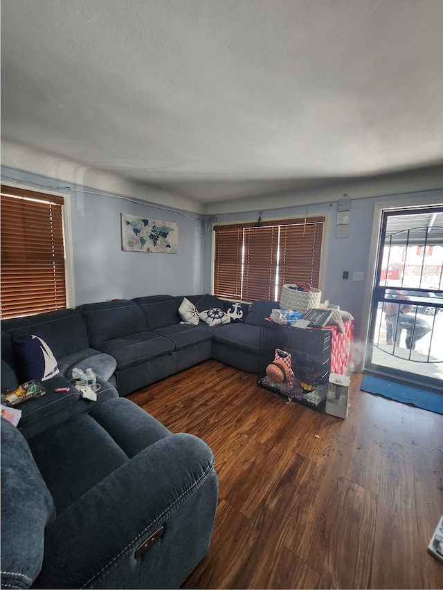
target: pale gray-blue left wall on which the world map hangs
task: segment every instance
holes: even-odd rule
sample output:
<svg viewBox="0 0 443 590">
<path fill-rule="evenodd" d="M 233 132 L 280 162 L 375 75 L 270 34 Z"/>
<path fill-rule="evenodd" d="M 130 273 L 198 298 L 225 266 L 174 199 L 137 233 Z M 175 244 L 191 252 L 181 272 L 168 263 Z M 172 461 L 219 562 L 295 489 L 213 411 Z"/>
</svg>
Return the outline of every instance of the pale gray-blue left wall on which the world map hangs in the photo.
<svg viewBox="0 0 443 590">
<path fill-rule="evenodd" d="M 113 196 L 66 189 L 66 183 L 2 167 L 2 178 L 69 195 L 75 306 L 143 295 L 201 293 L 201 223 L 196 213 L 163 210 Z M 179 224 L 179 252 L 124 252 L 120 213 Z M 183 214 L 181 214 L 183 213 Z M 192 218 L 192 219 L 189 219 Z M 193 220 L 196 221 L 193 221 Z"/>
</svg>

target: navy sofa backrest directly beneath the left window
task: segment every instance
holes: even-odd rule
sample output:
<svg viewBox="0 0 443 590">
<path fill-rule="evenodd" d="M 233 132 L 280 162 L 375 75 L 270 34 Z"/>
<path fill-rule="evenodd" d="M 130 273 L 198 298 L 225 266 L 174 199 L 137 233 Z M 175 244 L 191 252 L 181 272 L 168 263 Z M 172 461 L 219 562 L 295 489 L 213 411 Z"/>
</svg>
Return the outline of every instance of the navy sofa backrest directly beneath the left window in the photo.
<svg viewBox="0 0 443 590">
<path fill-rule="evenodd" d="M 10 335 L 12 342 L 24 336 L 39 336 L 56 359 L 89 347 L 83 316 L 70 308 L 1 320 L 1 330 Z"/>
</svg>

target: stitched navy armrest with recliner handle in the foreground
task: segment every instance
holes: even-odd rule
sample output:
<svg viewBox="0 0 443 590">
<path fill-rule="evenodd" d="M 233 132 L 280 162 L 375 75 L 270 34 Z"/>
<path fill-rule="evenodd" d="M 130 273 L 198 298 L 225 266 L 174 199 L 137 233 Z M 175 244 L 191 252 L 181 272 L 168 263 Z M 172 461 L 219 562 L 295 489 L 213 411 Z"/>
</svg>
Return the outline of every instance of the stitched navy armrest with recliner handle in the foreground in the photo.
<svg viewBox="0 0 443 590">
<path fill-rule="evenodd" d="M 46 528 L 35 587 L 179 587 L 208 551 L 217 497 L 204 441 L 191 434 L 156 441 Z M 161 526 L 163 536 L 136 557 Z"/>
</svg>

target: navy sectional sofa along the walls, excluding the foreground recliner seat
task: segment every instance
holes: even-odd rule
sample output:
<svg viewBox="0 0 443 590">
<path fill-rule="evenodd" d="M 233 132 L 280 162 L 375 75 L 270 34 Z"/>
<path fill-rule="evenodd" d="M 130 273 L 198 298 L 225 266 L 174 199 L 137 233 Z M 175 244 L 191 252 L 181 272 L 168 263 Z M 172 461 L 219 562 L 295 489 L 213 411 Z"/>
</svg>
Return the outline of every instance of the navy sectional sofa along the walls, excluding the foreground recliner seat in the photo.
<svg viewBox="0 0 443 590">
<path fill-rule="evenodd" d="M 213 295 L 186 298 L 199 311 L 227 309 L 233 302 Z M 69 381 L 73 367 L 91 367 L 98 376 L 101 403 L 126 396 L 208 358 L 251 373 L 266 367 L 260 356 L 264 317 L 278 302 L 255 301 L 243 305 L 242 321 L 208 326 L 186 324 L 179 315 L 183 296 L 152 295 L 119 299 L 1 321 L 1 391 L 27 380 L 15 355 L 21 339 L 35 335 L 50 347 L 60 374 L 51 378 L 48 394 L 22 405 L 19 424 L 29 439 L 46 428 L 87 411 L 88 400 Z M 57 387 L 69 391 L 57 393 Z"/>
</svg>

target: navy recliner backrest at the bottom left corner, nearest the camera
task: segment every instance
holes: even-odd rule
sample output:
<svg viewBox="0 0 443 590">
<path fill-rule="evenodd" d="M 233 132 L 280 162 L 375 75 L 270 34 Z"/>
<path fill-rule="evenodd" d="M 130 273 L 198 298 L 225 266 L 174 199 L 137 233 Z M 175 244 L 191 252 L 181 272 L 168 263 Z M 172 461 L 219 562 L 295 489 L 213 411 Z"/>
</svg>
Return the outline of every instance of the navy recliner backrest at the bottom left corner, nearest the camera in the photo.
<svg viewBox="0 0 443 590">
<path fill-rule="evenodd" d="M 1 587 L 29 588 L 44 554 L 54 502 L 24 436 L 1 418 Z"/>
</svg>

